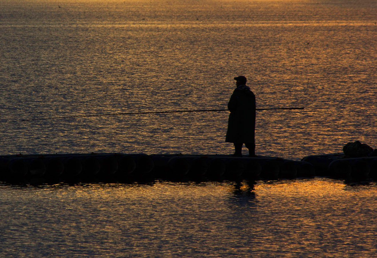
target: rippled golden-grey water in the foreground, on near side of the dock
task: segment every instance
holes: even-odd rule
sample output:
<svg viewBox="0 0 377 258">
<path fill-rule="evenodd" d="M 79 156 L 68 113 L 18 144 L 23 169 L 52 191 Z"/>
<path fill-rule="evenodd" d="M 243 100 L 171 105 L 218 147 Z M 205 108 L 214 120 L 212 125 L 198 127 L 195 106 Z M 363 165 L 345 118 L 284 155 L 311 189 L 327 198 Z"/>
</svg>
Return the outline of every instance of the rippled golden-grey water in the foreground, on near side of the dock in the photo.
<svg viewBox="0 0 377 258">
<path fill-rule="evenodd" d="M 377 187 L 327 178 L 0 186 L 8 255 L 372 257 Z"/>
</svg>

